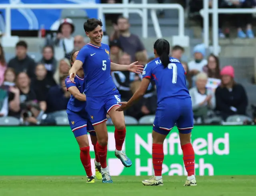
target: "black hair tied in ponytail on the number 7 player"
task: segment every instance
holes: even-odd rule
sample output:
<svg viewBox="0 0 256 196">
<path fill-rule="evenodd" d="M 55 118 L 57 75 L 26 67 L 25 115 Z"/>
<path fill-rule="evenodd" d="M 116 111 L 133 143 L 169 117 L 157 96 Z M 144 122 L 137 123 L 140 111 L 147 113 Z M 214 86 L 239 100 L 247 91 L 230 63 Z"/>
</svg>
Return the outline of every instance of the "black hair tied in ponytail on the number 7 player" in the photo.
<svg viewBox="0 0 256 196">
<path fill-rule="evenodd" d="M 156 54 L 160 57 L 160 61 L 164 68 L 168 67 L 170 63 L 170 44 L 166 39 L 158 39 L 154 43 Z"/>
</svg>

